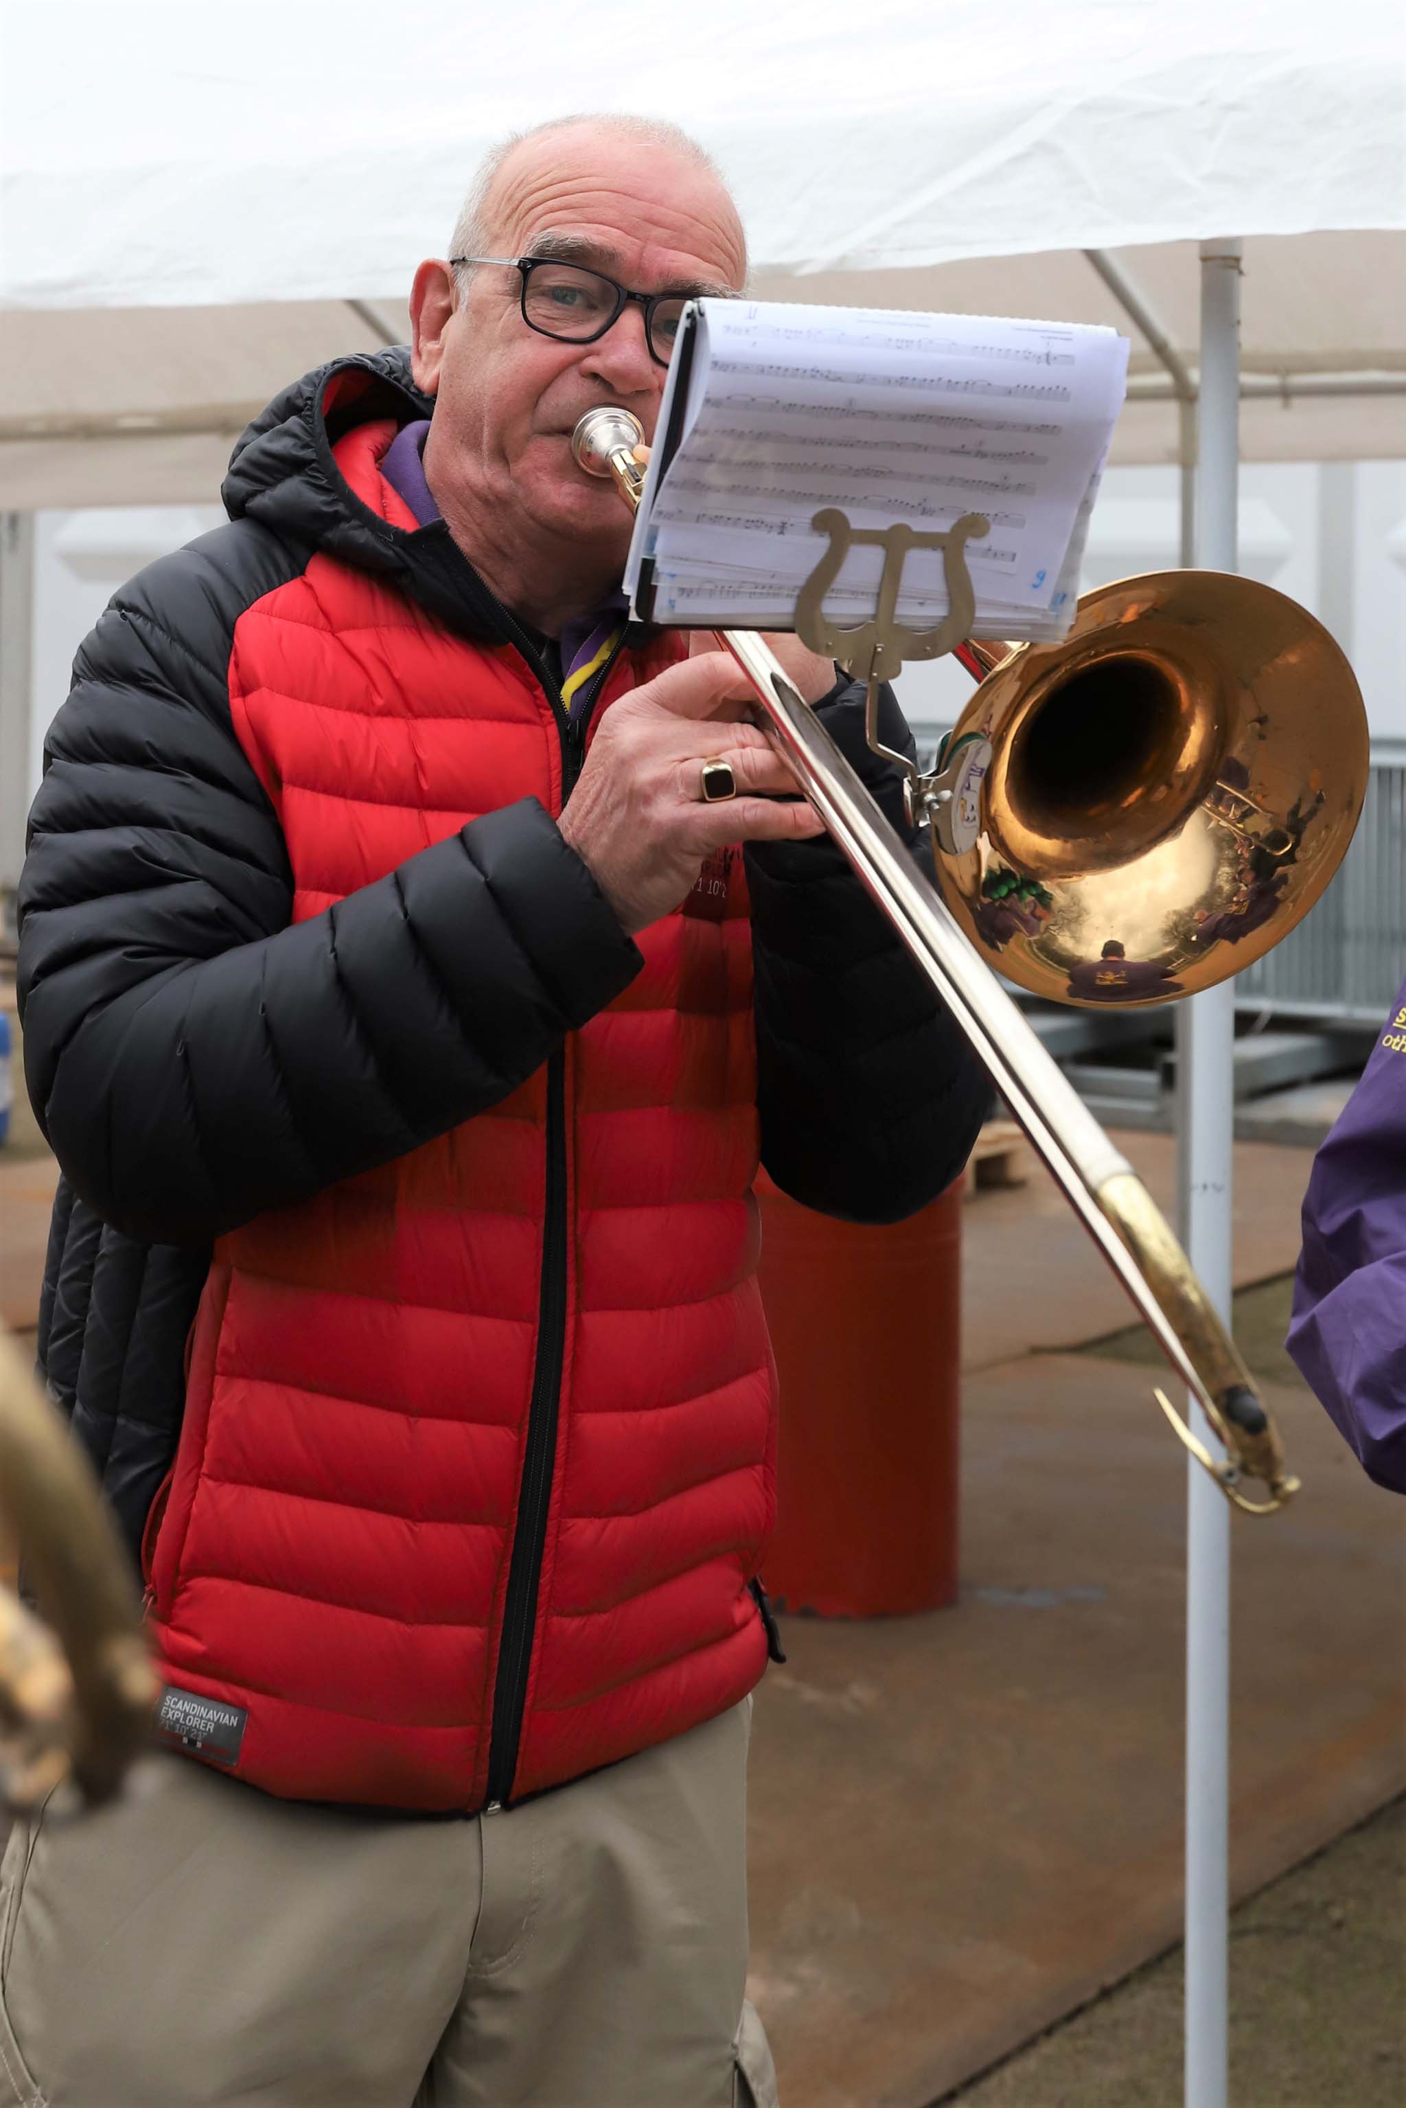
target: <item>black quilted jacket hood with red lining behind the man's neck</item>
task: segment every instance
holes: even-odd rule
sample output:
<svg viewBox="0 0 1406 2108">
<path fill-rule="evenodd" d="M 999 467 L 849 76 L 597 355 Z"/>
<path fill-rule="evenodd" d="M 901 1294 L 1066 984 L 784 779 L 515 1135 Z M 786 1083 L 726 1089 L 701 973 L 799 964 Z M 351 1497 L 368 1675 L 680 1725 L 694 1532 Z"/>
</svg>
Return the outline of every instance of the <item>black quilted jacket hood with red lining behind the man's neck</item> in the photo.
<svg viewBox="0 0 1406 2108">
<path fill-rule="evenodd" d="M 323 548 L 369 571 L 405 565 L 405 533 L 348 487 L 333 447 L 375 417 L 428 417 L 432 396 L 415 388 L 405 344 L 333 358 L 289 388 L 240 434 L 221 497 L 230 519 L 255 519 L 280 540 Z"/>
</svg>

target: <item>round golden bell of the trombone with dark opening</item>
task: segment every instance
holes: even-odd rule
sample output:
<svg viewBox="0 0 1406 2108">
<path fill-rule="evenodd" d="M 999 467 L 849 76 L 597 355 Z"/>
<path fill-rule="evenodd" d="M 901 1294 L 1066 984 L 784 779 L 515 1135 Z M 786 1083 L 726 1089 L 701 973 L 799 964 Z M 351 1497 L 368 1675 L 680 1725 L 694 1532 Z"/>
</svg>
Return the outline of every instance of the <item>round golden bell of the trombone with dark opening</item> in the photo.
<svg viewBox="0 0 1406 2108">
<path fill-rule="evenodd" d="M 944 753 L 978 738 L 976 824 L 955 843 L 934 826 L 940 892 L 999 974 L 1079 1008 L 1193 995 L 1277 944 L 1343 860 L 1368 778 L 1328 630 L 1221 571 L 1086 594 L 1065 643 L 987 675 Z"/>
</svg>

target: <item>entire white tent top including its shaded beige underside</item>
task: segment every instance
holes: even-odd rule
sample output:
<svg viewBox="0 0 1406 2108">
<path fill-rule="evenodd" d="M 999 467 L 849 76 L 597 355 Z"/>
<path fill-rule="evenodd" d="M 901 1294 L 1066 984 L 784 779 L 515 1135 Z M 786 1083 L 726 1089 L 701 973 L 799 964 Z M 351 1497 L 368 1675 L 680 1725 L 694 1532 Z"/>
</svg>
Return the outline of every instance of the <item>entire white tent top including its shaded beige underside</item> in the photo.
<svg viewBox="0 0 1406 2108">
<path fill-rule="evenodd" d="M 274 388 L 405 333 L 481 152 L 582 105 L 704 139 L 772 297 L 1126 327 L 1117 251 L 1193 367 L 1195 238 L 1244 232 L 1246 457 L 1406 455 L 1400 0 L 0 4 L 0 506 L 211 495 Z M 1132 371 L 1115 460 L 1176 460 Z"/>
</svg>

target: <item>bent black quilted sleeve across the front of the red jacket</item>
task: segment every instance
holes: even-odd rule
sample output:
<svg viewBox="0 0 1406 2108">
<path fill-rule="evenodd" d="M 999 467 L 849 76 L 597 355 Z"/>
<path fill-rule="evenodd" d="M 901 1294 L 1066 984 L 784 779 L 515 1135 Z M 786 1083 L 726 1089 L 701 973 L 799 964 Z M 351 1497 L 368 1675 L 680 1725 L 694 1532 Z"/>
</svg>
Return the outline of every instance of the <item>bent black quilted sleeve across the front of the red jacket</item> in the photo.
<svg viewBox="0 0 1406 2108">
<path fill-rule="evenodd" d="M 209 1244 L 495 1105 L 641 955 L 533 799 L 289 925 L 276 816 L 234 736 L 234 525 L 82 645 L 21 885 L 25 1077 L 59 1164 L 141 1242 Z"/>
</svg>

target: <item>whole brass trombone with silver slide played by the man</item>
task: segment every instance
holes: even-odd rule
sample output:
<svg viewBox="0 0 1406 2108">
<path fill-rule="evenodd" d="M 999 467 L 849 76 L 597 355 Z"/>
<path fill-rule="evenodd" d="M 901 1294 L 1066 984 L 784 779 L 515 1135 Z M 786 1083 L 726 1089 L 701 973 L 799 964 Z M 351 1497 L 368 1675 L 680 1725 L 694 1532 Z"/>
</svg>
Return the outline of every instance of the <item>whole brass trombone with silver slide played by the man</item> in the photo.
<svg viewBox="0 0 1406 2108">
<path fill-rule="evenodd" d="M 641 443 L 628 411 L 597 409 L 578 422 L 571 451 L 634 510 Z M 797 630 L 814 649 L 833 641 L 801 613 Z M 1090 594 L 1062 645 L 1010 656 L 963 647 L 972 670 L 995 670 L 938 765 L 890 757 L 906 772 L 911 816 L 930 826 L 938 894 L 763 639 L 717 637 L 1227 1461 L 1157 1391 L 1178 1438 L 1235 1507 L 1273 1514 L 1298 1480 L 1254 1379 L 1151 1193 L 978 951 L 1067 1003 L 1168 1001 L 1256 959 L 1317 900 L 1362 807 L 1366 717 L 1347 660 L 1284 594 L 1197 571 Z M 847 664 L 868 681 L 868 736 L 885 753 L 877 687 L 898 668 L 881 641 L 864 664 Z M 1189 892 L 1174 898 L 1178 883 Z M 1246 1478 L 1265 1499 L 1242 1490 Z"/>
</svg>

